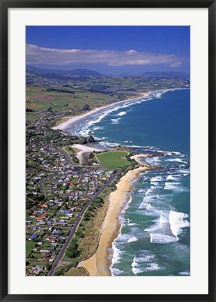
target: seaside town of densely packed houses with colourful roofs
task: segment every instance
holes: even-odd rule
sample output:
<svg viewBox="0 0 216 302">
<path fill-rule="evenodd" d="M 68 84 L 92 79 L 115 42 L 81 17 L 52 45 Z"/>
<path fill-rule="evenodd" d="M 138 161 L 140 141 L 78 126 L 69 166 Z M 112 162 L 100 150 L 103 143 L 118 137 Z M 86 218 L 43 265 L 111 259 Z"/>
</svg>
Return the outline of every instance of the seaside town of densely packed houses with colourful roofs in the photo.
<svg viewBox="0 0 216 302">
<path fill-rule="evenodd" d="M 93 143 L 50 129 L 52 113 L 26 121 L 26 275 L 53 275 L 82 216 L 110 187 L 120 168 L 104 168 L 89 156 L 76 157 L 75 143 Z M 48 119 L 48 120 L 49 120 Z M 99 197 L 98 197 L 99 196 Z"/>
</svg>

